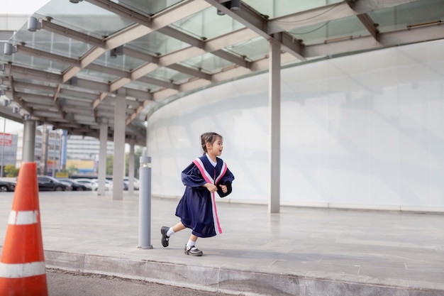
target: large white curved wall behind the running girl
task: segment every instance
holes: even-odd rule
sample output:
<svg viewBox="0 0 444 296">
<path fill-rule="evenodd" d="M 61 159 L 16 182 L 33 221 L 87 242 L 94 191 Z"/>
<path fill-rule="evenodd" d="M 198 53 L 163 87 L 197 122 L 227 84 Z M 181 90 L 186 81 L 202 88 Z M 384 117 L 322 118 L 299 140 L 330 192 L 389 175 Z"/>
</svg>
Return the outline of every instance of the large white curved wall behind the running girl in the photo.
<svg viewBox="0 0 444 296">
<path fill-rule="evenodd" d="M 282 70 L 281 204 L 444 211 L 444 41 Z M 191 94 L 148 120 L 152 194 L 182 196 L 205 131 L 224 137 L 232 201 L 267 203 L 268 74 Z"/>
</svg>

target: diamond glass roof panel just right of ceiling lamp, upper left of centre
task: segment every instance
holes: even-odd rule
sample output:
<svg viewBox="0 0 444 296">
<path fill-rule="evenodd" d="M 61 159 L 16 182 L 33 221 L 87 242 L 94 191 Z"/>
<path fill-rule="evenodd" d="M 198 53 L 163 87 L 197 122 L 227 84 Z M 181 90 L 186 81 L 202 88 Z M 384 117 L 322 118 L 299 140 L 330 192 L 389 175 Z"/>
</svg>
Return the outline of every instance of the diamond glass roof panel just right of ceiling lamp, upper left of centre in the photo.
<svg viewBox="0 0 444 296">
<path fill-rule="evenodd" d="M 165 34 L 157 31 L 149 33 L 141 38 L 131 41 L 126 46 L 150 55 L 165 55 L 176 50 L 189 47 L 189 44 L 170 38 Z"/>
</svg>

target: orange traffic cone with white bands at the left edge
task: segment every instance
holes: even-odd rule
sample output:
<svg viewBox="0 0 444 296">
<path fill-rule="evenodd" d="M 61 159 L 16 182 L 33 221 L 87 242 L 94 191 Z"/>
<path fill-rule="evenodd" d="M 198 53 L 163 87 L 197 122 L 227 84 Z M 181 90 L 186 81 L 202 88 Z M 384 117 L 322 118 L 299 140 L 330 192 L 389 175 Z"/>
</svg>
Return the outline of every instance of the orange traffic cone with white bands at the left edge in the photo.
<svg viewBox="0 0 444 296">
<path fill-rule="evenodd" d="M 0 295 L 48 296 L 37 166 L 22 163 L 0 258 Z"/>
</svg>

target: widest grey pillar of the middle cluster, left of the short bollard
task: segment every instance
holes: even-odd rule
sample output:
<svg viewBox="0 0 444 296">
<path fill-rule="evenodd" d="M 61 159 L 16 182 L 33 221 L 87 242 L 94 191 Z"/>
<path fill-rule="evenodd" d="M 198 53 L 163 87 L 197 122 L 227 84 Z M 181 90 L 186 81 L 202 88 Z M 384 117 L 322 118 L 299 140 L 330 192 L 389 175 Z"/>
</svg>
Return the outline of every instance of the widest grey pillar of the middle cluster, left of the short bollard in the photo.
<svg viewBox="0 0 444 296">
<path fill-rule="evenodd" d="M 113 200 L 123 199 L 123 170 L 125 168 L 126 100 L 116 97 L 114 106 L 114 157 L 113 157 Z"/>
</svg>

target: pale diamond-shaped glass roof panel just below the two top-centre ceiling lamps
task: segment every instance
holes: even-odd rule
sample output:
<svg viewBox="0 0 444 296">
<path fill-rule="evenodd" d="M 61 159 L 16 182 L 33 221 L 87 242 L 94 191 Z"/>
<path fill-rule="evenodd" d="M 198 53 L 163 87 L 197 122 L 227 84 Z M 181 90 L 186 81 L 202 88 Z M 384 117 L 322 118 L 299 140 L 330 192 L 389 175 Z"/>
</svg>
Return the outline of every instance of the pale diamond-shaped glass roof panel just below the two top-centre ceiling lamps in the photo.
<svg viewBox="0 0 444 296">
<path fill-rule="evenodd" d="M 211 6 L 192 16 L 172 23 L 171 27 L 195 38 L 212 39 L 245 26 L 233 20 L 230 16 L 218 16 L 217 9 Z"/>
</svg>

